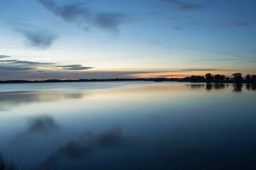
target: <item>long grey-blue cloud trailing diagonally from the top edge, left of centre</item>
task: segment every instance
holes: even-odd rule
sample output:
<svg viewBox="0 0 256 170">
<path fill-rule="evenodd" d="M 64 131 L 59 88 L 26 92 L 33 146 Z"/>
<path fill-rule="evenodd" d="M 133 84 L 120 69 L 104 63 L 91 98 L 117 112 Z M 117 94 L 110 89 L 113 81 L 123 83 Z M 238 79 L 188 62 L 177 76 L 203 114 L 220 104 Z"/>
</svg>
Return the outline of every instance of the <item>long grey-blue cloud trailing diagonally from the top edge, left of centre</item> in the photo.
<svg viewBox="0 0 256 170">
<path fill-rule="evenodd" d="M 69 23 L 76 23 L 85 31 L 89 30 L 89 25 L 118 32 L 119 26 L 125 23 L 129 17 L 128 14 L 124 13 L 93 12 L 86 3 L 73 3 L 59 6 L 57 3 L 50 0 L 37 1 L 56 16 L 63 18 Z M 82 24 L 86 24 L 87 26 L 82 27 Z"/>
</svg>

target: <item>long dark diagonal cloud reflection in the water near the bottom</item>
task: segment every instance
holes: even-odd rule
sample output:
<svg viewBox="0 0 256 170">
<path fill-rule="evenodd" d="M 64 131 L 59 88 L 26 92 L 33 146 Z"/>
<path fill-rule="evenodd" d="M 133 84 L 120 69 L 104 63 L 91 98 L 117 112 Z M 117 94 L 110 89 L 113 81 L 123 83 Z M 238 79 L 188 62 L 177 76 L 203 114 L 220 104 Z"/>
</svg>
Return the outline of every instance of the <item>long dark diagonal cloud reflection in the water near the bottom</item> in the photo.
<svg viewBox="0 0 256 170">
<path fill-rule="evenodd" d="M 34 170 L 44 170 L 60 165 L 60 161 L 68 158 L 82 161 L 84 156 L 93 154 L 96 150 L 114 150 L 131 146 L 131 141 L 122 134 L 121 126 L 117 125 L 110 130 L 94 135 L 92 132 L 84 133 L 77 140 L 68 141 L 47 156 L 41 163 L 33 167 Z M 64 165 L 63 165 L 64 166 Z M 84 162 L 86 167 L 86 163 Z M 73 165 L 76 167 L 76 165 Z"/>
</svg>

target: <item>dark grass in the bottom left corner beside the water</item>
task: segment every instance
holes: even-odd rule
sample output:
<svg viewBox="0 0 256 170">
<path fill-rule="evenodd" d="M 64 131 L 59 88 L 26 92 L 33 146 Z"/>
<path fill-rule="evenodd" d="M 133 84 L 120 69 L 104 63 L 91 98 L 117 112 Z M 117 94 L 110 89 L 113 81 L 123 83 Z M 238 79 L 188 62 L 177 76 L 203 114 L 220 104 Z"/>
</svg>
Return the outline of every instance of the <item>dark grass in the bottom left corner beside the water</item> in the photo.
<svg viewBox="0 0 256 170">
<path fill-rule="evenodd" d="M 0 152 L 0 170 L 25 170 L 12 160 L 6 159 L 6 154 Z"/>
</svg>

